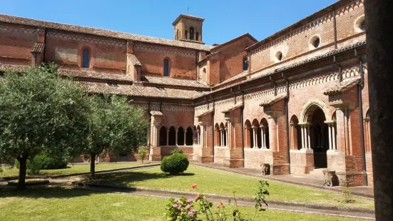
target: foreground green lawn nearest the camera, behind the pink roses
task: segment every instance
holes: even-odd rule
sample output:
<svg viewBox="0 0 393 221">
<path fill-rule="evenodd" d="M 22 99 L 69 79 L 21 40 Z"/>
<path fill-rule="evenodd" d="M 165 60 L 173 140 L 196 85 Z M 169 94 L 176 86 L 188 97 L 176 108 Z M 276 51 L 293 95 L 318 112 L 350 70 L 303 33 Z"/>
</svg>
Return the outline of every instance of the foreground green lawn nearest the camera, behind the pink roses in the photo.
<svg viewBox="0 0 393 221">
<path fill-rule="evenodd" d="M 0 220 L 163 220 L 167 199 L 57 188 L 0 190 Z M 230 208 L 228 207 L 228 212 Z M 255 210 L 240 207 L 246 217 Z M 254 220 L 349 221 L 354 219 L 267 210 Z"/>
</svg>

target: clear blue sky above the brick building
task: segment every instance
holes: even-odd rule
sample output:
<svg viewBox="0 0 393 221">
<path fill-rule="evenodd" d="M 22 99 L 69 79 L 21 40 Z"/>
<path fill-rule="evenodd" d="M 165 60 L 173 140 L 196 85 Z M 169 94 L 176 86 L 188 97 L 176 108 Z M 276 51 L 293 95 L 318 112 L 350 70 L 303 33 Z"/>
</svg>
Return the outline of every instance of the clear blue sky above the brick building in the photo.
<svg viewBox="0 0 393 221">
<path fill-rule="evenodd" d="M 211 45 L 247 32 L 260 41 L 336 0 L 1 1 L 0 14 L 169 39 L 172 22 L 188 12 L 205 18 L 203 41 Z"/>
</svg>

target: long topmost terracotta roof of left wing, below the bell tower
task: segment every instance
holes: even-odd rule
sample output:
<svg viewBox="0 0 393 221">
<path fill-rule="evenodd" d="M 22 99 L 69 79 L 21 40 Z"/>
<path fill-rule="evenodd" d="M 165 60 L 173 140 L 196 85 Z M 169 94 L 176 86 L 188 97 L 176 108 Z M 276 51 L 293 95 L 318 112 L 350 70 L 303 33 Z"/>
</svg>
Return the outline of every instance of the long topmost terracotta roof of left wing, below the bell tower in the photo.
<svg viewBox="0 0 393 221">
<path fill-rule="evenodd" d="M 39 26 L 49 29 L 72 31 L 81 34 L 92 34 L 92 35 L 103 36 L 108 38 L 118 38 L 118 39 L 130 40 L 130 41 L 156 43 L 156 44 L 175 46 L 180 48 L 190 48 L 190 49 L 196 49 L 201 51 L 210 51 L 210 49 L 213 48 L 213 46 L 207 46 L 201 43 L 175 41 L 165 38 L 155 38 L 150 36 L 141 36 L 138 34 L 129 34 L 120 31 L 109 31 L 106 29 L 96 29 L 96 28 L 89 28 L 84 26 L 74 26 L 70 24 L 60 24 L 60 23 L 49 22 L 49 21 L 39 21 L 35 19 L 26 19 L 22 17 L 9 16 L 5 14 L 0 14 L 0 21 L 6 23 L 12 23 L 12 24 L 23 24 L 27 26 Z"/>
</svg>

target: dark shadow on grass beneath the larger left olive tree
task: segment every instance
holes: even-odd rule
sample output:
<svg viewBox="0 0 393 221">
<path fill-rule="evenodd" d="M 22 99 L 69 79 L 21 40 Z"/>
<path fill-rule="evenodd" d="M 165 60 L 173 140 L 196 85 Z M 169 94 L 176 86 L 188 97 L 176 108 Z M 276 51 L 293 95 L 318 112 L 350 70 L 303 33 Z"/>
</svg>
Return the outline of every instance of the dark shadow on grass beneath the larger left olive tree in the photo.
<svg viewBox="0 0 393 221">
<path fill-rule="evenodd" d="M 107 194 L 106 192 L 91 192 L 86 190 L 73 190 L 61 187 L 28 187 L 26 190 L 17 191 L 15 188 L 1 188 L 0 200 L 6 197 L 29 197 L 29 198 L 71 198 L 83 197 L 92 194 Z"/>
</svg>

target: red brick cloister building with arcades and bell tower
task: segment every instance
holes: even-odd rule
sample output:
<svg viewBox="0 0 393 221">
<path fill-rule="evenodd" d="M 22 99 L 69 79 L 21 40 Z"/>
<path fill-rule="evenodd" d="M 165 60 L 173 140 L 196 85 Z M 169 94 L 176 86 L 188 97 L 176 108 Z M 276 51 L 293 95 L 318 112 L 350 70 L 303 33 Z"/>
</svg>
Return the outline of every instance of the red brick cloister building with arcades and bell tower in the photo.
<svg viewBox="0 0 393 221">
<path fill-rule="evenodd" d="M 202 163 L 330 168 L 372 185 L 363 2 L 214 46 L 190 15 L 173 22 L 175 40 L 0 15 L 0 70 L 54 61 L 89 93 L 129 96 L 150 120 L 150 160 L 178 147 Z"/>
</svg>

